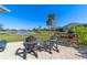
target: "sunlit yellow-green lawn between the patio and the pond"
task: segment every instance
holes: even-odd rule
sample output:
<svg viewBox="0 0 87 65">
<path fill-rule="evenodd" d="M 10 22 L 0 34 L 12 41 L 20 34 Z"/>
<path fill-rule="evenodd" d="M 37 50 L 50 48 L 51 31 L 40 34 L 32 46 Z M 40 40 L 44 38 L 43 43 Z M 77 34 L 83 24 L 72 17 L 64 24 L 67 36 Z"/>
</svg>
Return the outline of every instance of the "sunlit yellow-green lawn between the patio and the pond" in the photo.
<svg viewBox="0 0 87 65">
<path fill-rule="evenodd" d="M 48 31 L 42 31 L 41 33 L 32 32 L 31 35 L 34 35 L 37 41 L 45 41 L 48 40 L 51 35 Z M 4 40 L 7 42 L 18 42 L 18 41 L 24 41 L 25 37 L 29 35 L 0 35 L 0 41 Z"/>
</svg>

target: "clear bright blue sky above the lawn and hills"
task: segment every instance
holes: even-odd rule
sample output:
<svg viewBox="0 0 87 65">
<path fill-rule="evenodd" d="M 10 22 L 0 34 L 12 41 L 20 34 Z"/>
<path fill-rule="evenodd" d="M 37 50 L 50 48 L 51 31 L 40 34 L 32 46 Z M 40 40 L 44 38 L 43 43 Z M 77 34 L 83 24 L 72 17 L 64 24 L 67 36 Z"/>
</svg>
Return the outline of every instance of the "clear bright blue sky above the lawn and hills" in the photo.
<svg viewBox="0 0 87 65">
<path fill-rule="evenodd" d="M 11 12 L 0 12 L 4 29 L 46 28 L 50 13 L 55 13 L 57 26 L 70 22 L 87 23 L 87 4 L 3 4 Z"/>
</svg>

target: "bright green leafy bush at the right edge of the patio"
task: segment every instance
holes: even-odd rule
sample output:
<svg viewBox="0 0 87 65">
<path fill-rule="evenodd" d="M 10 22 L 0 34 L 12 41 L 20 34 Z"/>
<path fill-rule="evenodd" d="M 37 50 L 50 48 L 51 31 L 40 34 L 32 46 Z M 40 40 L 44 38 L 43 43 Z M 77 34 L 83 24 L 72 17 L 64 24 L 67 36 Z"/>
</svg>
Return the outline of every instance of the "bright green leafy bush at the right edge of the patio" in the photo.
<svg viewBox="0 0 87 65">
<path fill-rule="evenodd" d="M 70 30 L 77 33 L 80 44 L 87 45 L 87 26 L 73 26 Z"/>
</svg>

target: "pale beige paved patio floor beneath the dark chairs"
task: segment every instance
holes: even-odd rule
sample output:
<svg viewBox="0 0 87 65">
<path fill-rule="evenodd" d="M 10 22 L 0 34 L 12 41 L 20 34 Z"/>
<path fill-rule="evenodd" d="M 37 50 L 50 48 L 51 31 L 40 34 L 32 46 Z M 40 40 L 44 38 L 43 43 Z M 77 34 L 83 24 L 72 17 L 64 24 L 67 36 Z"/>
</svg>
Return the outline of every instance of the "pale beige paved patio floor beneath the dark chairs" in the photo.
<svg viewBox="0 0 87 65">
<path fill-rule="evenodd" d="M 4 52 L 0 52 L 0 59 L 22 59 L 22 57 L 14 55 L 19 47 L 23 47 L 22 42 L 8 43 Z M 39 52 L 39 58 L 28 54 L 28 59 L 81 59 L 80 55 L 75 48 L 58 46 L 59 53 L 53 51 L 53 54 L 47 52 Z"/>
</svg>

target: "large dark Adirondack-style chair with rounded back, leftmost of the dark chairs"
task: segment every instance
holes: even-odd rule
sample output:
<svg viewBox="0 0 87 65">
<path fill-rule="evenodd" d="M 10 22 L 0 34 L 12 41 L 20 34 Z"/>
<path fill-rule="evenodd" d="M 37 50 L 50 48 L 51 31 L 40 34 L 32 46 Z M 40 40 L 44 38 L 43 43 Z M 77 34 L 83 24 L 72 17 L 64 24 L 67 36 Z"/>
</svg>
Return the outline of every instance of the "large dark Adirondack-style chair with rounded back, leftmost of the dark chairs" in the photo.
<svg viewBox="0 0 87 65">
<path fill-rule="evenodd" d="M 26 59 L 28 53 L 33 53 L 34 56 L 37 58 L 37 42 L 36 39 L 32 35 L 28 36 L 23 43 L 24 48 L 18 48 L 15 55 L 23 54 L 23 59 Z M 19 53 L 19 50 L 23 51 Z"/>
</svg>

